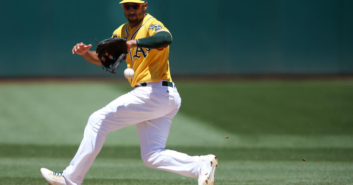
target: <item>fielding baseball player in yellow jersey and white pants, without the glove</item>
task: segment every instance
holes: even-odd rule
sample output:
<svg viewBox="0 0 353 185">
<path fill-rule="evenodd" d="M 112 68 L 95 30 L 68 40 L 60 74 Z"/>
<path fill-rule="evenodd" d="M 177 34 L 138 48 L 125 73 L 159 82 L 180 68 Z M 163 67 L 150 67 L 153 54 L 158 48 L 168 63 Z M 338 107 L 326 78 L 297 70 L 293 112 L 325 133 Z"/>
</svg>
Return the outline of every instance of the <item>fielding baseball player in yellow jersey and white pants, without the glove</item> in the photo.
<svg viewBox="0 0 353 185">
<path fill-rule="evenodd" d="M 89 117 L 78 151 L 63 172 L 41 168 L 41 175 L 49 184 L 80 185 L 107 134 L 136 125 L 141 158 L 146 166 L 197 177 L 199 185 L 214 184 L 214 173 L 218 166 L 216 156 L 189 156 L 164 149 L 172 118 L 181 105 L 181 98 L 169 72 L 172 35 L 160 21 L 145 13 L 147 2 L 123 0 L 120 4 L 128 22 L 113 34 L 127 37 L 127 67 L 135 72 L 128 81 L 134 89 Z M 101 65 L 96 52 L 89 50 L 91 46 L 78 43 L 74 45 L 72 54 L 82 55 L 87 61 Z"/>
</svg>

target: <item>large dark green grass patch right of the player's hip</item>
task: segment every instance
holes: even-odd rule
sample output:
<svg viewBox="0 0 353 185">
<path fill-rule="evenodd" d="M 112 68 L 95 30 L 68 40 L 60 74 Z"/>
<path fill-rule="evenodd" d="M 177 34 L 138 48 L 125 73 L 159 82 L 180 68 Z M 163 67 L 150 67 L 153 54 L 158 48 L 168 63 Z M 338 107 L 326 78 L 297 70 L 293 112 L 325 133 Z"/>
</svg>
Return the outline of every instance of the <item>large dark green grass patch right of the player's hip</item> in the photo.
<svg viewBox="0 0 353 185">
<path fill-rule="evenodd" d="M 353 133 L 352 79 L 177 84 L 183 99 L 180 112 L 233 133 Z"/>
</svg>

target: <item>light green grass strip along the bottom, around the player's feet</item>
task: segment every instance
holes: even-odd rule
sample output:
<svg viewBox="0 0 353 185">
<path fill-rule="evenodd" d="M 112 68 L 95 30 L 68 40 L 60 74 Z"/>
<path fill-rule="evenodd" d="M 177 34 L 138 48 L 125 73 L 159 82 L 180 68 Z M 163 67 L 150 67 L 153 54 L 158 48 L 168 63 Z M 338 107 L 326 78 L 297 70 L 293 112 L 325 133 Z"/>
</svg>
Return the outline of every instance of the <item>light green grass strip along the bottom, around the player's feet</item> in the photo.
<svg viewBox="0 0 353 185">
<path fill-rule="evenodd" d="M 62 171 L 67 159 L 13 158 L 0 159 L 0 184 L 47 184 L 39 169 Z M 352 162 L 332 161 L 219 161 L 216 183 L 220 185 L 251 184 L 352 184 Z M 115 184 L 177 185 L 197 184 L 196 178 L 152 169 L 138 159 L 97 159 L 86 174 L 85 185 Z"/>
</svg>

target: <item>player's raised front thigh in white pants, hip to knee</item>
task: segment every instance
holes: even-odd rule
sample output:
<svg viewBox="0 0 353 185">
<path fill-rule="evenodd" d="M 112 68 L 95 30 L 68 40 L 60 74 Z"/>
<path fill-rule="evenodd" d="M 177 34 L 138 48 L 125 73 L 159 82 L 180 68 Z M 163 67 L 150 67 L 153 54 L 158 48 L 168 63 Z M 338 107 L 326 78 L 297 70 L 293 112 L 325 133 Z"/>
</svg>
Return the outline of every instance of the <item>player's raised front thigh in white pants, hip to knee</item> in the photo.
<svg viewBox="0 0 353 185">
<path fill-rule="evenodd" d="M 144 121 L 170 124 L 179 110 L 180 102 L 175 101 L 180 97 L 167 99 L 159 91 L 150 87 L 135 88 L 97 111 L 97 118 L 101 119 L 102 124 L 112 127 L 110 131 Z"/>
</svg>

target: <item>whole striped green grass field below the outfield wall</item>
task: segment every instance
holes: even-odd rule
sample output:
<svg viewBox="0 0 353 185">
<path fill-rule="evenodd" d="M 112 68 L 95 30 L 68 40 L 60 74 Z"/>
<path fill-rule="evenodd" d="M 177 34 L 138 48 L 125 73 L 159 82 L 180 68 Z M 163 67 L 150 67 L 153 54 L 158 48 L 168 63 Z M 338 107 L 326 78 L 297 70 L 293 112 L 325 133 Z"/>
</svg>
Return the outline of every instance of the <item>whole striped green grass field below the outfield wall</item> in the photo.
<svg viewBox="0 0 353 185">
<path fill-rule="evenodd" d="M 216 185 L 353 184 L 352 79 L 175 83 L 182 105 L 166 148 L 218 156 Z M 111 80 L 0 82 L 0 184 L 46 185 L 40 168 L 62 171 L 91 113 L 131 89 Z M 83 184 L 197 179 L 145 167 L 131 126 L 108 135 Z"/>
</svg>

